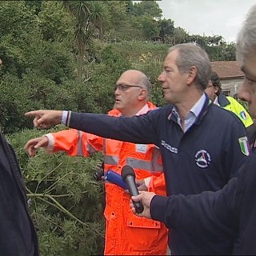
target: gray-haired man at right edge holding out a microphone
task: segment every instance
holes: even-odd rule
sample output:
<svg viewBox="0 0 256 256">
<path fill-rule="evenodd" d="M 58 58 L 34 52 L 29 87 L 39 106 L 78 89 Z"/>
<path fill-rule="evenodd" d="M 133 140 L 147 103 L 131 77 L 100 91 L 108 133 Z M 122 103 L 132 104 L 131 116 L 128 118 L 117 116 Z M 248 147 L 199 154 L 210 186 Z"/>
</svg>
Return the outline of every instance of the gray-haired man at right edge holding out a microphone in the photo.
<svg viewBox="0 0 256 256">
<path fill-rule="evenodd" d="M 238 97 L 249 103 L 256 118 L 256 5 L 250 8 L 238 34 L 236 56 L 245 80 Z M 255 147 L 255 143 L 254 143 Z M 187 230 L 195 236 L 212 238 L 239 236 L 241 254 L 256 254 L 256 153 L 218 192 L 163 198 L 150 193 L 133 197 L 145 207 L 142 216 L 162 221 L 174 230 Z M 131 205 L 133 208 L 133 206 Z M 134 210 L 134 209 L 133 209 Z"/>
</svg>

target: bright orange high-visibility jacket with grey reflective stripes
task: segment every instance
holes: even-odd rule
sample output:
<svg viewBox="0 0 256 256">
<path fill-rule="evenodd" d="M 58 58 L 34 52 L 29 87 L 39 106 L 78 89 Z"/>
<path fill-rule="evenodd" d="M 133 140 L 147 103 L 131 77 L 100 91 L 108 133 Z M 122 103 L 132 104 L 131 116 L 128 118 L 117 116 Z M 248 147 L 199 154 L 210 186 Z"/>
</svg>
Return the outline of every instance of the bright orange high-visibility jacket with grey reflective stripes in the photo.
<svg viewBox="0 0 256 256">
<path fill-rule="evenodd" d="M 155 106 L 148 102 L 149 109 Z M 118 110 L 110 115 L 119 116 Z M 162 174 L 159 150 L 152 144 L 142 145 L 101 138 L 79 130 L 63 130 L 50 134 L 52 152 L 64 150 L 69 155 L 87 157 L 102 150 L 104 168 L 121 174 L 125 165 L 134 168 L 136 178 Z M 106 186 L 106 218 L 104 254 L 114 255 L 166 255 L 167 229 L 163 223 L 135 216 L 130 210 L 130 194 L 110 182 Z M 156 194 L 165 194 L 165 189 L 155 186 Z"/>
</svg>

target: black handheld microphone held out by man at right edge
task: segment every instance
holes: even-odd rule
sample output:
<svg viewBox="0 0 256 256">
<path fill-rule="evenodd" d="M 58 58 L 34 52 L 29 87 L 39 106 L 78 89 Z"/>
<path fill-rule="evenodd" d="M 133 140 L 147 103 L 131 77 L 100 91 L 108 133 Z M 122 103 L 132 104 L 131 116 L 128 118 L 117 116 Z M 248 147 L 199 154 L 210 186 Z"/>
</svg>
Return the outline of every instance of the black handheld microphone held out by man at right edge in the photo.
<svg viewBox="0 0 256 256">
<path fill-rule="evenodd" d="M 131 166 L 123 166 L 121 172 L 122 180 L 126 183 L 130 195 L 138 195 L 138 188 L 135 184 L 135 173 Z M 144 210 L 141 202 L 134 202 L 134 208 L 137 214 L 141 214 Z"/>
</svg>

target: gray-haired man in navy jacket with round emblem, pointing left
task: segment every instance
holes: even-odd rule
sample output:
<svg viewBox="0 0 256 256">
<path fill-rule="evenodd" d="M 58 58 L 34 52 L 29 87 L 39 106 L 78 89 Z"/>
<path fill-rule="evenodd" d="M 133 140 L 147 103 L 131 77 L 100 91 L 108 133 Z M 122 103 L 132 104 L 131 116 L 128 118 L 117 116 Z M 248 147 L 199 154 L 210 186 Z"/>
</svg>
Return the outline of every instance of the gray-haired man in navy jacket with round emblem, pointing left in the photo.
<svg viewBox="0 0 256 256">
<path fill-rule="evenodd" d="M 106 138 L 154 143 L 162 153 L 168 196 L 217 191 L 237 175 L 250 149 L 238 117 L 204 94 L 210 74 L 206 52 L 194 44 L 180 44 L 170 48 L 158 77 L 170 102 L 164 108 L 133 118 L 56 110 L 31 111 L 26 116 L 35 116 L 34 126 L 39 128 L 62 122 Z M 172 254 L 231 254 L 234 239 L 172 229 L 169 246 Z"/>
</svg>

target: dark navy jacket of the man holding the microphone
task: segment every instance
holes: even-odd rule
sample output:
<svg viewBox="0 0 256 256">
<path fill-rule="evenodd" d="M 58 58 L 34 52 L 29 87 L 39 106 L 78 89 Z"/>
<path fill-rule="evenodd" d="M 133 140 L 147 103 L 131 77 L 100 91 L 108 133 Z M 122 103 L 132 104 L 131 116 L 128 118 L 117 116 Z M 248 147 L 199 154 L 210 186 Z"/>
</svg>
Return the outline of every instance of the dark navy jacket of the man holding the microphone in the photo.
<svg viewBox="0 0 256 256">
<path fill-rule="evenodd" d="M 256 152 L 222 190 L 169 198 L 155 195 L 150 214 L 174 230 L 230 239 L 239 235 L 241 254 L 256 255 Z M 190 214 L 188 214 L 190 213 Z"/>
</svg>

